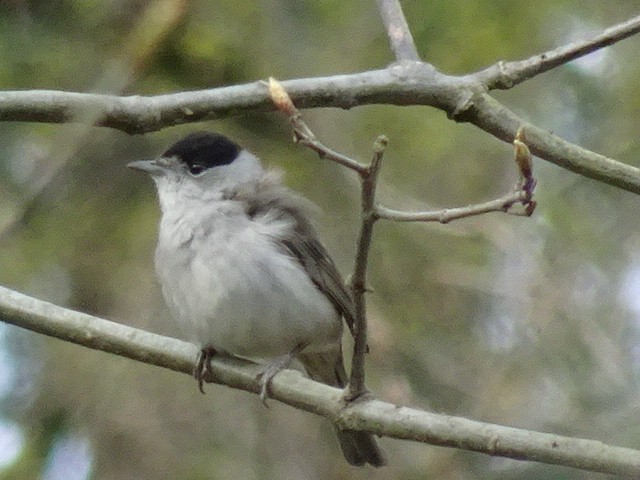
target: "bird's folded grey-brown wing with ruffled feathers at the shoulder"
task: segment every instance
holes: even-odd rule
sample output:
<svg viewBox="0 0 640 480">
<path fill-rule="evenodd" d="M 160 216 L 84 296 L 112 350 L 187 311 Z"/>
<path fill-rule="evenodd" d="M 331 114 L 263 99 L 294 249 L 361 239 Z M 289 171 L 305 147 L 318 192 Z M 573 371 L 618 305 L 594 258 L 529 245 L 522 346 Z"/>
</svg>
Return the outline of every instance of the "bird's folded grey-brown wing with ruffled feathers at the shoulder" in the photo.
<svg viewBox="0 0 640 480">
<path fill-rule="evenodd" d="M 299 197 L 279 183 L 277 177 L 266 177 L 251 192 L 239 190 L 231 197 L 243 203 L 250 217 L 269 214 L 293 222 L 290 238 L 282 241 L 283 248 L 298 259 L 309 278 L 324 293 L 344 318 L 355 337 L 355 306 L 335 263 L 320 243 L 315 229 L 308 220 L 312 210 L 310 202 Z"/>
</svg>

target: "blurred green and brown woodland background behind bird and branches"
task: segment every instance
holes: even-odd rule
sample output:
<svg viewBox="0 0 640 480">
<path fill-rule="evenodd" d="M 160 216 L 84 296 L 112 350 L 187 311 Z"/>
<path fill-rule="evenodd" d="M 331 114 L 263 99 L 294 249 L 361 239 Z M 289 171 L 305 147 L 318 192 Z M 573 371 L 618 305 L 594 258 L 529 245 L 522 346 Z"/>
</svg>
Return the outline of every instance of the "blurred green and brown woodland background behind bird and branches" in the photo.
<svg viewBox="0 0 640 480">
<path fill-rule="evenodd" d="M 585 38 L 638 0 L 404 2 L 423 58 L 479 70 Z M 519 115 L 638 165 L 640 37 L 495 96 Z M 359 72 L 391 62 L 373 0 L 4 0 L 0 88 L 160 94 Z M 426 107 L 304 112 L 366 161 L 390 139 L 379 198 L 396 208 L 491 199 L 512 149 Z M 125 164 L 193 129 L 232 136 L 323 210 L 353 265 L 358 183 L 292 144 L 280 114 L 144 136 L 86 125 L 0 124 L 0 284 L 166 335 L 152 257 L 152 182 Z M 640 198 L 536 160 L 530 219 L 380 222 L 371 252 L 369 383 L 380 398 L 640 448 Z M 389 466 L 342 459 L 328 422 L 0 323 L 0 479 L 601 479 L 382 439 Z"/>
</svg>

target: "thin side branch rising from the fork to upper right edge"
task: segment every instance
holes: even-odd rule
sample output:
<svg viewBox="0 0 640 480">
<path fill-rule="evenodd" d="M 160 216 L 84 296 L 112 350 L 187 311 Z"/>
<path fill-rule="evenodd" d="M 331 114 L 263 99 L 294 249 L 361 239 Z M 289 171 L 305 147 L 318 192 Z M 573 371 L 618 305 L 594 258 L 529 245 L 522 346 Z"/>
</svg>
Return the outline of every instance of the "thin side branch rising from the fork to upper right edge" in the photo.
<svg viewBox="0 0 640 480">
<path fill-rule="evenodd" d="M 489 90 L 506 90 L 571 60 L 624 40 L 638 32 L 640 32 L 640 16 L 607 28 L 588 40 L 564 45 L 526 60 L 498 62 L 496 65 L 473 76 L 483 82 Z"/>
</svg>

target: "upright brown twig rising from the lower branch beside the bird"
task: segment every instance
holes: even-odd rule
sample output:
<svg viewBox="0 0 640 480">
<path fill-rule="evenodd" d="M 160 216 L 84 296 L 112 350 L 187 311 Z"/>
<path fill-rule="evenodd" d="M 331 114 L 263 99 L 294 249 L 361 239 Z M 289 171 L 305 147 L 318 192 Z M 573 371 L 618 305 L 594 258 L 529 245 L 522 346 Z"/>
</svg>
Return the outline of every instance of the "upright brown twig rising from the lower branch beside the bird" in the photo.
<svg viewBox="0 0 640 480">
<path fill-rule="evenodd" d="M 365 355 L 367 353 L 367 266 L 369 264 L 369 250 L 373 238 L 373 225 L 376 222 L 375 199 L 378 173 L 385 149 L 387 138 L 380 136 L 373 146 L 373 158 L 367 171 L 361 175 L 361 225 L 356 242 L 356 260 L 351 277 L 351 290 L 356 310 L 355 343 L 353 358 L 351 359 L 351 378 L 349 379 L 348 399 L 356 399 L 367 391 L 365 384 Z"/>
</svg>

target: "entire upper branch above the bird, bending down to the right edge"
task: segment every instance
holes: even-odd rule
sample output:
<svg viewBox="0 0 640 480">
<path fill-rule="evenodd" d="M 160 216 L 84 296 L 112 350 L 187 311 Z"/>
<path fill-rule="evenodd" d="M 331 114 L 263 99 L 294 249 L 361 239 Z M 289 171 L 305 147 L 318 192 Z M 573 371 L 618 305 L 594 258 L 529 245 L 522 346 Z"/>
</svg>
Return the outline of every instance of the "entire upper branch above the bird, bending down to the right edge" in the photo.
<svg viewBox="0 0 640 480">
<path fill-rule="evenodd" d="M 423 64 L 393 66 L 353 75 L 289 80 L 284 88 L 299 108 L 351 108 L 367 104 L 430 105 L 456 121 L 471 122 L 511 142 L 525 122 L 487 94 L 472 76 L 449 77 Z M 271 111 L 275 108 L 264 82 L 155 97 L 117 97 L 57 91 L 0 92 L 0 121 L 60 123 L 78 118 L 84 109 L 98 109 L 99 125 L 128 133 Z M 640 169 L 598 155 L 527 126 L 535 155 L 567 170 L 640 193 Z"/>
</svg>

